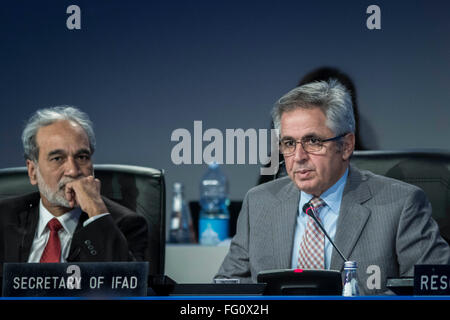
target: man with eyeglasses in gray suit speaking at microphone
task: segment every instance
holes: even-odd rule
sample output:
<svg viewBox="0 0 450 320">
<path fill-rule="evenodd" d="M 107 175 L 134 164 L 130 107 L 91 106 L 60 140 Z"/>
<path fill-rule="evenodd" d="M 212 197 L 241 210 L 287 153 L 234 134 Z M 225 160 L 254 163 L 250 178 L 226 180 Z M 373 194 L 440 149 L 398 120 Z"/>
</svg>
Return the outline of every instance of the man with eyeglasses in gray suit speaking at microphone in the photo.
<svg viewBox="0 0 450 320">
<path fill-rule="evenodd" d="M 389 277 L 412 276 L 415 264 L 447 264 L 450 249 L 431 218 L 425 193 L 350 165 L 355 119 L 349 93 L 336 80 L 297 87 L 272 112 L 288 177 L 251 189 L 216 278 L 256 282 L 272 269 L 343 270 L 358 264 L 359 291 L 380 294 Z M 367 270 L 379 268 L 379 284 Z M 369 268 L 370 267 L 370 268 Z"/>
</svg>

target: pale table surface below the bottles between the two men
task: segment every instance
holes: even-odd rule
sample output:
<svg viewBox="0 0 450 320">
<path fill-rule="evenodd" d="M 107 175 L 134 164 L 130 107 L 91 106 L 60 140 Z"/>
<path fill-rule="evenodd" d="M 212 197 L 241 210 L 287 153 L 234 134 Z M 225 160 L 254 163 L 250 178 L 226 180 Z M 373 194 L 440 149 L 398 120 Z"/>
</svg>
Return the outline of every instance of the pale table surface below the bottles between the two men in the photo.
<svg viewBox="0 0 450 320">
<path fill-rule="evenodd" d="M 178 283 L 211 283 L 229 245 L 167 244 L 165 275 Z"/>
</svg>

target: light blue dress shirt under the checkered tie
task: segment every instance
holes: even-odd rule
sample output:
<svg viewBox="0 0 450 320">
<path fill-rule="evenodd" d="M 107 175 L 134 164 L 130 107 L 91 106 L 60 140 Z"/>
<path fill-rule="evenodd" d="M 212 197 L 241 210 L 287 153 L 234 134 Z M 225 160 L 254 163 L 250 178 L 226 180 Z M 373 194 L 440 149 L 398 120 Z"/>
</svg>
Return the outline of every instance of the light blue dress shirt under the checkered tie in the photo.
<svg viewBox="0 0 450 320">
<path fill-rule="evenodd" d="M 344 175 L 331 188 L 320 195 L 320 198 L 327 204 L 319 211 L 319 217 L 325 230 L 331 239 L 334 240 L 336 234 L 336 224 L 339 217 L 339 209 L 341 207 L 342 194 L 347 182 L 348 168 Z M 292 251 L 291 268 L 296 269 L 298 264 L 298 254 L 300 243 L 303 234 L 305 233 L 308 216 L 302 211 L 303 206 L 313 198 L 313 195 L 307 194 L 303 191 L 300 193 L 300 202 L 298 206 L 297 224 L 295 227 L 294 246 Z M 333 252 L 333 245 L 325 236 L 325 269 L 330 268 L 331 253 Z"/>
</svg>

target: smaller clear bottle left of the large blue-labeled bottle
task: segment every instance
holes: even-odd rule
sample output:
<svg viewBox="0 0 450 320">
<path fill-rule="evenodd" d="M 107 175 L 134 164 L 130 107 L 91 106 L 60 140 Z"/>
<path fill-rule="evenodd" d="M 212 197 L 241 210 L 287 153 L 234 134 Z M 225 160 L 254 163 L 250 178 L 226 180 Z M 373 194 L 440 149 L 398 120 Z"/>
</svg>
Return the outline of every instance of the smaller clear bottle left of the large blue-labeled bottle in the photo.
<svg viewBox="0 0 450 320">
<path fill-rule="evenodd" d="M 169 242 L 195 243 L 196 237 L 192 224 L 192 216 L 184 199 L 183 185 L 173 184 L 172 215 L 170 217 Z"/>
</svg>

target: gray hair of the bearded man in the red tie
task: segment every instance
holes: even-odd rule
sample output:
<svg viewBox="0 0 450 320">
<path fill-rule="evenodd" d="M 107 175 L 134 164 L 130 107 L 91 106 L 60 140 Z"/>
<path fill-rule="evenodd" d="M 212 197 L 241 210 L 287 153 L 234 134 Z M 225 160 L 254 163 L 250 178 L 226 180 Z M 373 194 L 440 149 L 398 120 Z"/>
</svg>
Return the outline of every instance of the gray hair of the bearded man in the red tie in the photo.
<svg viewBox="0 0 450 320">
<path fill-rule="evenodd" d="M 87 134 L 91 153 L 95 150 L 95 135 L 93 125 L 89 116 L 72 106 L 57 106 L 36 111 L 28 120 L 22 132 L 22 144 L 25 159 L 37 162 L 39 158 L 39 146 L 36 135 L 40 128 L 51 125 L 57 121 L 73 121 L 78 124 Z"/>
</svg>

